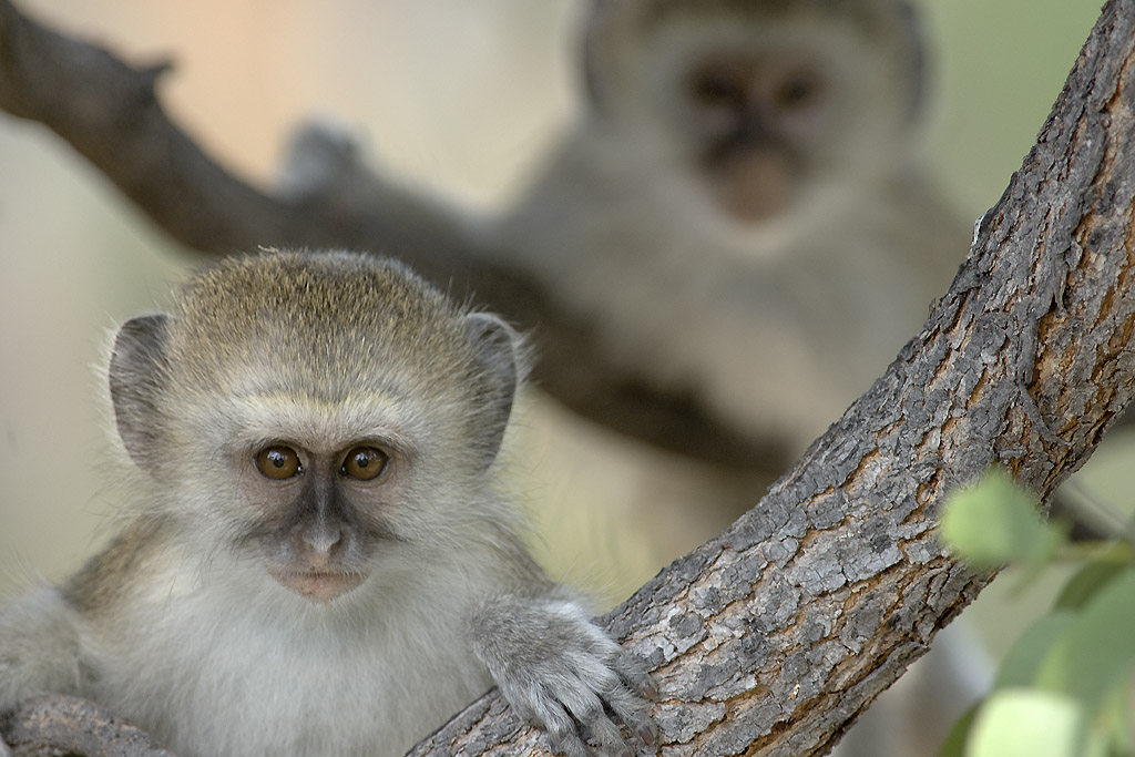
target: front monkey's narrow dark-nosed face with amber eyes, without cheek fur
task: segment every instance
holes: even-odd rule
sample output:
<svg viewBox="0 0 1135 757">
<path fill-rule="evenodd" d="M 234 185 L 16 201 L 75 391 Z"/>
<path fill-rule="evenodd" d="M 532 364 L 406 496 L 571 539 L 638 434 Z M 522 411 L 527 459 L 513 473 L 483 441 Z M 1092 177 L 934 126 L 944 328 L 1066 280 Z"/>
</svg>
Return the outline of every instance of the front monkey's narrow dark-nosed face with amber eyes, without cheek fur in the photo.
<svg viewBox="0 0 1135 757">
<path fill-rule="evenodd" d="M 356 426 L 345 405 L 285 409 L 278 399 L 243 409 L 224 463 L 239 508 L 221 516 L 235 547 L 280 586 L 329 602 L 365 582 L 409 536 L 401 529 L 419 506 L 418 456 L 389 417 Z"/>
</svg>

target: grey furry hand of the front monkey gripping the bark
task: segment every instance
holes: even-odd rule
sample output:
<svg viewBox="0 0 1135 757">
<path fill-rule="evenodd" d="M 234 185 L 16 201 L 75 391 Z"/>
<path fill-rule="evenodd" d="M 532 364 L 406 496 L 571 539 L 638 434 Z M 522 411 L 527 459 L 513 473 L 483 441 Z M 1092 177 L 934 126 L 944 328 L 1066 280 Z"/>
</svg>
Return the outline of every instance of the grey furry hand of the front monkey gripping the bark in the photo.
<svg viewBox="0 0 1135 757">
<path fill-rule="evenodd" d="M 553 751 L 589 755 L 586 739 L 630 757 L 621 722 L 654 747 L 657 729 L 644 697 L 658 687 L 637 656 L 564 599 L 495 597 L 474 619 L 473 649 L 505 699 L 541 729 Z"/>
</svg>

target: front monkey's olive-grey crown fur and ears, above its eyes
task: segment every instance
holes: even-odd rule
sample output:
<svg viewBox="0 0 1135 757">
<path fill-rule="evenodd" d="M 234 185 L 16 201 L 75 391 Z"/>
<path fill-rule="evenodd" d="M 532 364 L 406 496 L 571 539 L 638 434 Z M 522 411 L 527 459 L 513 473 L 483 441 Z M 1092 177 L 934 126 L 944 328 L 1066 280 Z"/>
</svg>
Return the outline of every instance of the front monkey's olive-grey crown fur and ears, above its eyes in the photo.
<svg viewBox="0 0 1135 757">
<path fill-rule="evenodd" d="M 272 444 L 342 456 L 368 439 L 407 461 L 407 486 L 437 466 L 472 480 L 518 370 L 512 329 L 401 263 L 274 251 L 209 268 L 168 314 L 125 323 L 109 378 L 131 457 L 188 493 L 239 488 Z"/>
</svg>

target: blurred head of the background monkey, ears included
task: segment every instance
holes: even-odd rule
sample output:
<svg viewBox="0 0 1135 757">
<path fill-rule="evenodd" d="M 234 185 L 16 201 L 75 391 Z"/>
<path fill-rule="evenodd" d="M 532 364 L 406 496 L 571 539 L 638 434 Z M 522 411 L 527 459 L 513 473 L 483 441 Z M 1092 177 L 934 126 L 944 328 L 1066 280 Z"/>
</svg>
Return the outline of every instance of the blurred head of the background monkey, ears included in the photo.
<svg viewBox="0 0 1135 757">
<path fill-rule="evenodd" d="M 906 158 L 922 84 L 907 11 L 891 0 L 600 1 L 595 110 L 722 217 L 759 224 Z"/>
</svg>

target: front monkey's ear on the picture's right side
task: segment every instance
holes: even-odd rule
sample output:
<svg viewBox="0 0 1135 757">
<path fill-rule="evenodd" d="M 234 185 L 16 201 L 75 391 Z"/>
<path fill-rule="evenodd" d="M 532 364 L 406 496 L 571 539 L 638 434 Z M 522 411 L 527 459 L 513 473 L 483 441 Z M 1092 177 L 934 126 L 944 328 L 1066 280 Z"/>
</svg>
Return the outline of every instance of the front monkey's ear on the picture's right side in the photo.
<svg viewBox="0 0 1135 757">
<path fill-rule="evenodd" d="M 491 313 L 470 313 L 465 317 L 465 337 L 477 361 L 479 376 L 474 384 L 480 388 L 478 399 L 485 403 L 480 421 L 486 427 L 478 431 L 478 436 L 486 440 L 490 447 L 489 455 L 494 457 L 508 424 L 512 401 L 520 381 L 520 336 Z"/>
</svg>

